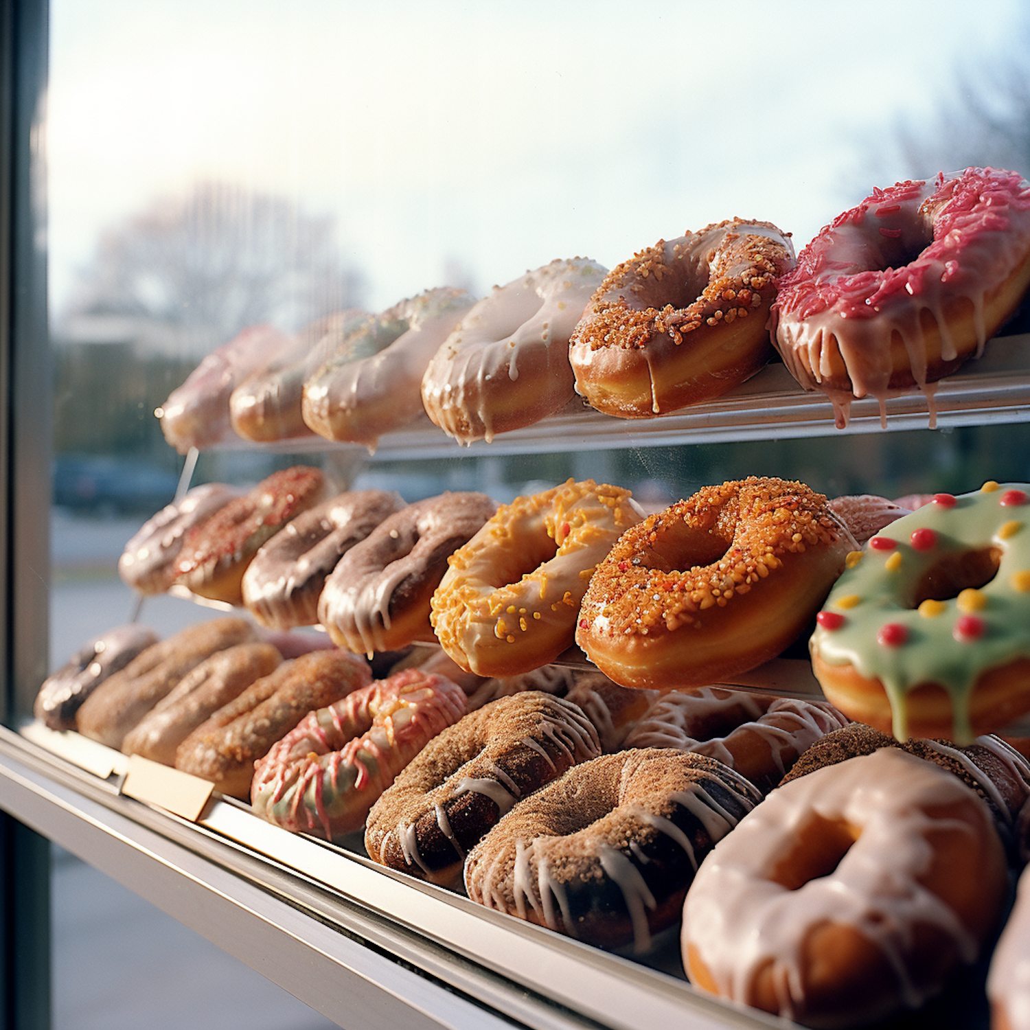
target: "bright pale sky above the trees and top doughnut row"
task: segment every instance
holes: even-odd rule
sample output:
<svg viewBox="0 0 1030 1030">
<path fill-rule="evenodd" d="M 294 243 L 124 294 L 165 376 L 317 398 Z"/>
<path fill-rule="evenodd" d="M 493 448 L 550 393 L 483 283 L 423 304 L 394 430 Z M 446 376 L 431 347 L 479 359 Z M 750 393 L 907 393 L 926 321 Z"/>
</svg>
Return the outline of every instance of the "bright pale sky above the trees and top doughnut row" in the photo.
<svg viewBox="0 0 1030 1030">
<path fill-rule="evenodd" d="M 800 248 L 888 184 L 899 119 L 1007 60 L 1021 5 L 972 9 L 54 0 L 55 308 L 101 230 L 204 177 L 334 213 L 373 308 L 735 215 Z"/>
</svg>

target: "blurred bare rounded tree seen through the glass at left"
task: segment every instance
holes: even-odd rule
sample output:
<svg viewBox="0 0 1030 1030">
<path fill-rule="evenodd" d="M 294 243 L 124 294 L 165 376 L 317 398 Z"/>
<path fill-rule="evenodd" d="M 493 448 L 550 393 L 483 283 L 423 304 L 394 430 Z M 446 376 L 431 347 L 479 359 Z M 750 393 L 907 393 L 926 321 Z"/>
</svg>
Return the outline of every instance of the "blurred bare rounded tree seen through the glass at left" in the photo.
<svg viewBox="0 0 1030 1030">
<path fill-rule="evenodd" d="M 261 322 L 296 329 L 356 304 L 362 287 L 332 217 L 201 182 L 106 232 L 67 313 L 142 316 L 206 347 Z"/>
</svg>

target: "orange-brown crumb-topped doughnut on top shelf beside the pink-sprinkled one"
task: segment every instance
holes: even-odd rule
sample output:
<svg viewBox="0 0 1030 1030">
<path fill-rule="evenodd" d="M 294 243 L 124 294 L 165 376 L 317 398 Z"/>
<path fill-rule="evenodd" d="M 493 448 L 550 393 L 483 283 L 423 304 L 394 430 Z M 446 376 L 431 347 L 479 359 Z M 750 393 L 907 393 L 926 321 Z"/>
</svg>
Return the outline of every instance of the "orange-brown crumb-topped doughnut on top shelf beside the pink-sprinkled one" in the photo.
<svg viewBox="0 0 1030 1030">
<path fill-rule="evenodd" d="M 619 418 L 719 397 L 772 353 L 766 320 L 794 267 L 787 234 L 734 218 L 659 240 L 609 272 L 573 334 L 576 391 Z"/>
</svg>

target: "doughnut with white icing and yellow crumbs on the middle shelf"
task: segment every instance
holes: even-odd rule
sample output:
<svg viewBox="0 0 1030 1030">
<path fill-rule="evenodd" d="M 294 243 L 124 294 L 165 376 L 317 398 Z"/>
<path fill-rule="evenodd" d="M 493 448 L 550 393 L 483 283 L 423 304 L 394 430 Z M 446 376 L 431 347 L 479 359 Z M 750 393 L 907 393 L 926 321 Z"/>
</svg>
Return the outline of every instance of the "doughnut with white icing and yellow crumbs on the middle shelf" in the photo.
<svg viewBox="0 0 1030 1030">
<path fill-rule="evenodd" d="M 479 676 L 516 676 L 572 647 L 597 562 L 640 521 L 628 490 L 592 479 L 502 505 L 433 595 L 443 649 Z"/>
</svg>

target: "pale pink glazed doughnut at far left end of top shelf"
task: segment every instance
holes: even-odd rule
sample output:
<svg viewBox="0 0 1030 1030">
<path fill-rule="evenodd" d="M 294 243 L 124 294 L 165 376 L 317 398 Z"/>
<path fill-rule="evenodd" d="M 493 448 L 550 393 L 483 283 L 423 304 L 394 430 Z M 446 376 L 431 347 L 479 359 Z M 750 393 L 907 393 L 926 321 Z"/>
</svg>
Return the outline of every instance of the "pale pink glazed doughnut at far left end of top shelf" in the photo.
<svg viewBox="0 0 1030 1030">
<path fill-rule="evenodd" d="M 251 325 L 208 354 L 154 411 L 165 439 L 180 454 L 219 443 L 230 430 L 229 399 L 249 375 L 296 346 L 272 325 Z"/>
</svg>

